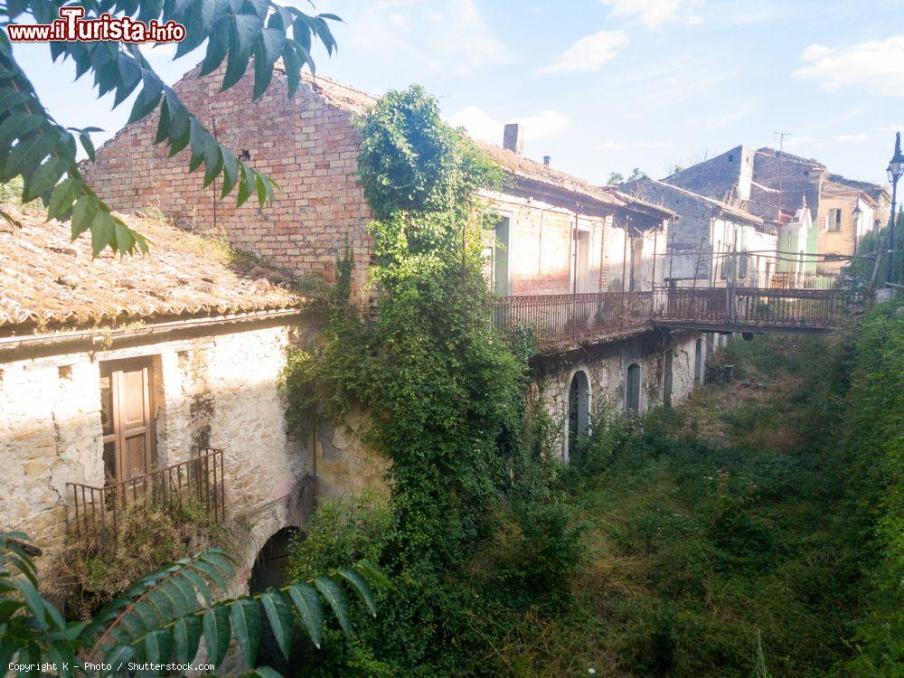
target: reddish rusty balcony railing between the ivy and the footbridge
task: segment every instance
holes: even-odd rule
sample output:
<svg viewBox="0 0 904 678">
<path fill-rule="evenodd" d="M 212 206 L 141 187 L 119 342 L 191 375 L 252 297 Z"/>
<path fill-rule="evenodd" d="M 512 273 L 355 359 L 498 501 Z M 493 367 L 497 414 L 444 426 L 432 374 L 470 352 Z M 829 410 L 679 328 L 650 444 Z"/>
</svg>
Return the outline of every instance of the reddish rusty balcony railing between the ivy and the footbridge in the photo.
<svg viewBox="0 0 904 678">
<path fill-rule="evenodd" d="M 652 292 L 499 297 L 493 322 L 502 331 L 528 329 L 541 345 L 576 342 L 644 327 L 652 316 L 652 302 Z"/>
</svg>

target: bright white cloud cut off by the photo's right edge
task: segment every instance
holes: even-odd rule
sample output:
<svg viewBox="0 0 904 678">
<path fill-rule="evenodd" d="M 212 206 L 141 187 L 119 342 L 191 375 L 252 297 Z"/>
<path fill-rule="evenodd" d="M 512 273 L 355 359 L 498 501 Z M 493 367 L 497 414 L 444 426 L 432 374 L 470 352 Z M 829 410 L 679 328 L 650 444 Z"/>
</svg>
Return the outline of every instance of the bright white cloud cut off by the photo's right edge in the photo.
<svg viewBox="0 0 904 678">
<path fill-rule="evenodd" d="M 857 87 L 904 97 L 904 34 L 834 49 L 814 44 L 801 59 L 809 65 L 792 75 L 819 80 L 823 89 Z"/>
</svg>

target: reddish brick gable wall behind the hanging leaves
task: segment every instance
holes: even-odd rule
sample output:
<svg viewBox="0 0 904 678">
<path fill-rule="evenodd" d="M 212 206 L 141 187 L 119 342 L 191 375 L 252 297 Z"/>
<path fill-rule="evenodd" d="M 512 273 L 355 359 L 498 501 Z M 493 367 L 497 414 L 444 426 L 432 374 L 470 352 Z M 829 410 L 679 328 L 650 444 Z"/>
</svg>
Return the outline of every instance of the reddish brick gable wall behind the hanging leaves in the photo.
<svg viewBox="0 0 904 678">
<path fill-rule="evenodd" d="M 355 174 L 361 137 L 352 114 L 305 81 L 289 101 L 281 73 L 257 101 L 250 71 L 225 92 L 220 82 L 219 73 L 198 78 L 192 71 L 175 89 L 221 143 L 236 155 L 248 151 L 250 165 L 277 182 L 272 205 L 259 209 L 252 198 L 237 209 L 234 193 L 217 200 L 219 181 L 202 189 L 202 170 L 188 174 L 188 149 L 168 158 L 165 146 L 153 145 L 156 114 L 99 149 L 97 163 L 86 168 L 89 183 L 118 211 L 155 205 L 184 226 L 223 229 L 240 248 L 301 275 L 332 280 L 347 239 L 357 264 L 355 294 L 363 301 L 371 212 Z"/>
</svg>

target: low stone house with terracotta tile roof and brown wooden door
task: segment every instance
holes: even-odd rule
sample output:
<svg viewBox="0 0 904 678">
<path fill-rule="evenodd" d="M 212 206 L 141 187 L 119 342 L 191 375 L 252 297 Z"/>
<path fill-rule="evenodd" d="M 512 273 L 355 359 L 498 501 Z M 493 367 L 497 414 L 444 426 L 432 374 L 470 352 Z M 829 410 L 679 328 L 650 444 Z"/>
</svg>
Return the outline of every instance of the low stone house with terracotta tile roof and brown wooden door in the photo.
<svg viewBox="0 0 904 678">
<path fill-rule="evenodd" d="M 339 494 L 348 476 L 379 482 L 379 466 L 352 474 L 315 459 L 315 447 L 356 441 L 287 430 L 279 374 L 310 330 L 284 277 L 151 219 L 130 221 L 152 257 L 93 260 L 68 224 L 20 221 L 0 228 L 5 530 L 52 552 L 67 530 L 121 519 L 151 487 L 183 489 L 247 525 L 243 583 L 271 535 L 306 521 L 315 484 Z"/>
</svg>

